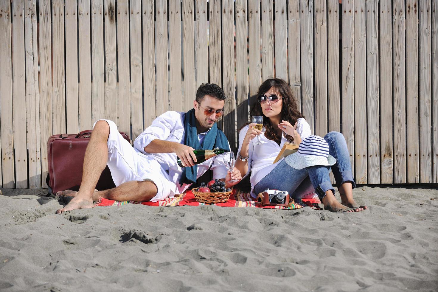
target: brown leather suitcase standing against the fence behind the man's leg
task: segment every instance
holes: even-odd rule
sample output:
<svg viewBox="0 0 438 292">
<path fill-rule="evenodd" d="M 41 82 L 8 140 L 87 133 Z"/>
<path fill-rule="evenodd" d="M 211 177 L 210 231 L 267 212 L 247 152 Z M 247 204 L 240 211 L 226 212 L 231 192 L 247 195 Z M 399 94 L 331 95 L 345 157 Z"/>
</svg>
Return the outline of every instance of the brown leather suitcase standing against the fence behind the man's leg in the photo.
<svg viewBox="0 0 438 292">
<path fill-rule="evenodd" d="M 53 135 L 47 141 L 47 159 L 49 174 L 47 195 L 56 194 L 60 190 L 79 190 L 82 180 L 85 149 L 92 130 L 85 130 L 79 134 Z M 129 142 L 127 134 L 120 132 Z M 97 183 L 97 190 L 107 190 L 115 187 L 108 166 L 103 170 Z"/>
</svg>

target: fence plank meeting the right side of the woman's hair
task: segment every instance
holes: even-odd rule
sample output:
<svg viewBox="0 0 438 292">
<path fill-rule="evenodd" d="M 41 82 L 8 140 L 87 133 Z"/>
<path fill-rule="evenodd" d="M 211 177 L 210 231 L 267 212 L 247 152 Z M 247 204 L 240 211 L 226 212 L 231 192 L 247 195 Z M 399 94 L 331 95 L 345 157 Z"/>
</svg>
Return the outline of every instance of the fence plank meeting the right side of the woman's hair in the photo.
<svg viewBox="0 0 438 292">
<path fill-rule="evenodd" d="M 287 18 L 289 84 L 292 88 L 293 96 L 297 101 L 298 109 L 301 109 L 300 2 L 296 0 L 288 0 L 287 7 L 289 7 Z M 339 54 L 337 58 L 339 60 Z"/>
</svg>

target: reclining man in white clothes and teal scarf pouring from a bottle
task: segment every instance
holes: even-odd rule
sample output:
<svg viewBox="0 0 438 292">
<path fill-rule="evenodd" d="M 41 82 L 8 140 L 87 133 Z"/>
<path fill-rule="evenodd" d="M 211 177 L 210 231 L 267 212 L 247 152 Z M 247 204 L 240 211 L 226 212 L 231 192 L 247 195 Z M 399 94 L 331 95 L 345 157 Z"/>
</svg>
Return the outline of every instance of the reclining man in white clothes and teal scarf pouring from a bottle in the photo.
<svg viewBox="0 0 438 292">
<path fill-rule="evenodd" d="M 98 120 L 85 151 L 82 182 L 78 192 L 60 191 L 57 195 L 74 198 L 57 210 L 60 214 L 74 209 L 92 208 L 93 201 L 104 197 L 116 201 L 160 201 L 185 190 L 208 169 L 213 178 L 225 180 L 226 187 L 237 184 L 242 176 L 234 168 L 230 173 L 222 155 L 195 165 L 195 149 L 230 149 L 230 144 L 216 121 L 223 115 L 226 96 L 216 84 L 201 84 L 193 109 L 187 113 L 169 111 L 156 118 L 134 141 L 134 148 L 117 130 L 114 122 Z M 177 164 L 179 157 L 186 167 Z M 95 190 L 108 165 L 117 187 Z M 231 179 L 237 182 L 230 183 Z"/>
</svg>

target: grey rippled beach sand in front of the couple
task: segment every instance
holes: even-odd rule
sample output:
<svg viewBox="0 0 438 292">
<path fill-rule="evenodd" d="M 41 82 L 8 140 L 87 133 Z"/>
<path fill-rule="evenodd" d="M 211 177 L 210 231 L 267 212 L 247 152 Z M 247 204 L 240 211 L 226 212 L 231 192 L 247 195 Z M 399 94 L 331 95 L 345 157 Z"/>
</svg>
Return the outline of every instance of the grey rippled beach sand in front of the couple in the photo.
<svg viewBox="0 0 438 292">
<path fill-rule="evenodd" d="M 438 190 L 359 186 L 370 209 L 149 207 L 56 215 L 3 189 L 4 291 L 437 291 Z"/>
</svg>

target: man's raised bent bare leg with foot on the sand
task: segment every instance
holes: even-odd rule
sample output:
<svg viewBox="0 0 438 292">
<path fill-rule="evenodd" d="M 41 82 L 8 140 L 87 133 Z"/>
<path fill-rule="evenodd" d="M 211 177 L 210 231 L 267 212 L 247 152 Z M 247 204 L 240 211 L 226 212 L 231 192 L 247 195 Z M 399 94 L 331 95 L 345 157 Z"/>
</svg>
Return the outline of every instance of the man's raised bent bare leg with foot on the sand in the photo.
<svg viewBox="0 0 438 292">
<path fill-rule="evenodd" d="M 84 170 L 79 191 L 70 203 L 64 208 L 57 210 L 58 214 L 64 211 L 94 207 L 92 195 L 99 177 L 108 162 L 108 136 L 108 123 L 104 120 L 98 121 L 85 151 Z"/>
</svg>

